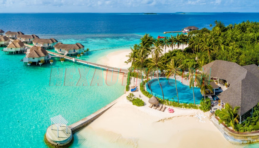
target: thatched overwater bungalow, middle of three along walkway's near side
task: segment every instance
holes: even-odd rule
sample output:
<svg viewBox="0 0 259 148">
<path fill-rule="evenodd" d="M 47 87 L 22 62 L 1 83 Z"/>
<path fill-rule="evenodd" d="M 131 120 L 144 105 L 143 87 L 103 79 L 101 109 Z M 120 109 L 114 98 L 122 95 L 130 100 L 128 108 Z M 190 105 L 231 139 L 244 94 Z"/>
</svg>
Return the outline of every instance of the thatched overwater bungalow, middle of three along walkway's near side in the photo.
<svg viewBox="0 0 259 148">
<path fill-rule="evenodd" d="M 6 48 L 4 48 L 4 51 L 13 52 L 13 53 L 15 53 L 16 51 L 18 51 L 18 53 L 20 53 L 20 52 L 24 52 L 26 50 L 27 50 L 27 47 L 24 46 L 24 43 L 18 39 L 14 40 Z"/>
</svg>

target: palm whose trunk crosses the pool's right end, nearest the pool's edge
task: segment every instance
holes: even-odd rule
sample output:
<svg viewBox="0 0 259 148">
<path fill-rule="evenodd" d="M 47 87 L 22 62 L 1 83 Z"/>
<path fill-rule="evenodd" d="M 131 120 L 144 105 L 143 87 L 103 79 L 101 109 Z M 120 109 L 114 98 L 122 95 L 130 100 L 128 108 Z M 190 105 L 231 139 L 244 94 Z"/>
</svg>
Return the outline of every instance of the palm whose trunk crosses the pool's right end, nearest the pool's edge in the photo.
<svg viewBox="0 0 259 148">
<path fill-rule="evenodd" d="M 183 77 L 185 79 L 189 79 L 189 86 L 190 88 L 192 88 L 192 93 L 193 93 L 193 102 L 194 102 L 194 105 L 195 105 L 195 96 L 194 96 L 194 87 L 195 87 L 195 77 L 196 77 L 196 70 L 195 70 L 195 66 L 193 64 L 188 64 L 189 68 L 188 68 L 188 71 L 189 73 L 188 74 L 185 74 Z"/>
</svg>

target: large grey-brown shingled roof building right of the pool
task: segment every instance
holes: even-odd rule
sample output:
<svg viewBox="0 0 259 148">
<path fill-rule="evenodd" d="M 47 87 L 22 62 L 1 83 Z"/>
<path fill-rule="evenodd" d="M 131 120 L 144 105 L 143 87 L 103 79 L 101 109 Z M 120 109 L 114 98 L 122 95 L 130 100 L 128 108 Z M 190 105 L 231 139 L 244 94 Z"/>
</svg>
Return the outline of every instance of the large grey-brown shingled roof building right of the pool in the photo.
<svg viewBox="0 0 259 148">
<path fill-rule="evenodd" d="M 240 122 L 253 114 L 253 108 L 259 102 L 258 66 L 240 66 L 233 62 L 215 60 L 202 68 L 211 78 L 227 83 L 228 88 L 217 96 L 233 107 L 240 106 Z"/>
</svg>

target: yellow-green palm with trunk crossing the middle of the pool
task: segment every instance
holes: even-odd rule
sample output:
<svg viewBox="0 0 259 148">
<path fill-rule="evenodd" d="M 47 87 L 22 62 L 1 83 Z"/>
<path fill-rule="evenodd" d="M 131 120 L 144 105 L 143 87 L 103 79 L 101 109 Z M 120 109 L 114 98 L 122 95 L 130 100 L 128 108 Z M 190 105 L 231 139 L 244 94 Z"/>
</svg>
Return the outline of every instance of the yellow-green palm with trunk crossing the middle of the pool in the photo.
<svg viewBox="0 0 259 148">
<path fill-rule="evenodd" d="M 181 67 L 183 65 L 180 65 L 181 63 L 181 59 L 178 58 L 172 58 L 170 63 L 167 64 L 167 71 L 168 71 L 168 75 L 167 78 L 171 75 L 174 74 L 175 75 L 175 88 L 176 88 L 176 94 L 177 94 L 177 100 L 179 103 L 179 97 L 178 97 L 178 91 L 177 91 L 177 84 L 176 84 L 176 75 L 182 75 L 182 70 Z"/>
</svg>

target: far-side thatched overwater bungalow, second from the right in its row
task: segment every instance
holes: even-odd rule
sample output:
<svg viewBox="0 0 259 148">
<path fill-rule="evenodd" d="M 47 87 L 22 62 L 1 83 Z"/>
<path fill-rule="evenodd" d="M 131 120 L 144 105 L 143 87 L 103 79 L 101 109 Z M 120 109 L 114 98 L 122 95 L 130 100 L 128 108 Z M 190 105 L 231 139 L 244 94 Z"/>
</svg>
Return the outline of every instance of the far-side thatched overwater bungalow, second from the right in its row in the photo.
<svg viewBox="0 0 259 148">
<path fill-rule="evenodd" d="M 50 38 L 50 39 L 35 38 L 32 41 L 34 46 L 40 46 L 40 47 L 43 47 L 44 49 L 53 48 L 53 46 L 56 45 L 57 42 L 58 41 L 55 40 L 54 38 Z"/>
</svg>

